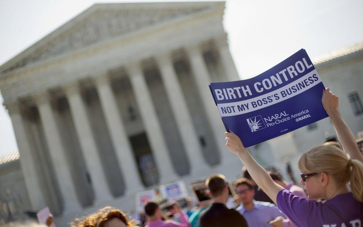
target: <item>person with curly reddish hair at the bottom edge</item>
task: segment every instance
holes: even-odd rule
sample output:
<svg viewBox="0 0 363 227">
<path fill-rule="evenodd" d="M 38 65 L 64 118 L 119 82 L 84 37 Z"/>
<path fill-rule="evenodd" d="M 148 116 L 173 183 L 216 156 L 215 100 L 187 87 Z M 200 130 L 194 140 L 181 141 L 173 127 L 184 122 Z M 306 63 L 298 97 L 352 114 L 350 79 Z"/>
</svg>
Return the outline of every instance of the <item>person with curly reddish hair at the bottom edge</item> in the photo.
<svg viewBox="0 0 363 227">
<path fill-rule="evenodd" d="M 120 210 L 106 206 L 93 214 L 76 218 L 70 224 L 71 227 L 126 227 L 135 226 L 132 220 Z"/>
</svg>

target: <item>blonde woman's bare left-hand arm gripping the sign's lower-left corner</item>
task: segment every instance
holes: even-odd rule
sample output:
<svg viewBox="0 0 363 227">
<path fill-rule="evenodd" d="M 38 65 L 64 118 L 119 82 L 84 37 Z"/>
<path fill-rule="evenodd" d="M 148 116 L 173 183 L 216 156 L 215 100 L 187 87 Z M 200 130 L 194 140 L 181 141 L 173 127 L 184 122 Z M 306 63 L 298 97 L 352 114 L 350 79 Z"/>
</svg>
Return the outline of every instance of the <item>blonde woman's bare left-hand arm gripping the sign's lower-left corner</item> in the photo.
<svg viewBox="0 0 363 227">
<path fill-rule="evenodd" d="M 242 141 L 236 134 L 234 134 L 231 130 L 225 132 L 226 136 L 226 147 L 233 154 L 236 154 L 242 161 L 243 165 L 248 170 L 248 173 L 251 175 L 252 179 L 257 183 L 257 185 L 264 190 L 264 192 L 276 202 L 276 197 L 278 192 L 281 189 L 284 189 L 280 185 L 276 184 L 270 175 L 266 172 L 262 166 L 260 166 L 248 153 L 247 149 L 243 146 Z"/>
</svg>

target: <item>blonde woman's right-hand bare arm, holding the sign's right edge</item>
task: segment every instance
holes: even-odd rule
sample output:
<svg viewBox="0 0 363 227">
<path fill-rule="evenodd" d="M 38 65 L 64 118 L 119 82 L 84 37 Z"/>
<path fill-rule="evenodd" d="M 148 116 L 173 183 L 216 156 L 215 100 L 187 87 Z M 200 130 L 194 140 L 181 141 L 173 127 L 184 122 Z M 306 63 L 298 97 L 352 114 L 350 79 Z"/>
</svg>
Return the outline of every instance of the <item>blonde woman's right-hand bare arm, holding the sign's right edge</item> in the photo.
<svg viewBox="0 0 363 227">
<path fill-rule="evenodd" d="M 337 132 L 338 139 L 342 144 L 343 150 L 350 155 L 351 159 L 357 159 L 363 162 L 363 155 L 358 149 L 358 145 L 355 141 L 354 135 L 339 113 L 338 96 L 332 94 L 330 92 L 330 89 L 327 88 L 326 90 L 324 90 L 322 103 L 326 113 L 329 115 L 331 121 L 333 122 L 335 131 Z"/>
</svg>

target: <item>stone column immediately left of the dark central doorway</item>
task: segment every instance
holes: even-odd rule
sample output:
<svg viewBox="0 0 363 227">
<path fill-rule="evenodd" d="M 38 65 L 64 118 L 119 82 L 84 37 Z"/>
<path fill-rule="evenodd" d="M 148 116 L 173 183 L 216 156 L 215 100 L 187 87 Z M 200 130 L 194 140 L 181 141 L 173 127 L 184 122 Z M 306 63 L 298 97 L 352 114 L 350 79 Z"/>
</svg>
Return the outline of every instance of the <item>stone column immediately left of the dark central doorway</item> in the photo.
<svg viewBox="0 0 363 227">
<path fill-rule="evenodd" d="M 94 77 L 107 128 L 110 131 L 111 141 L 116 151 L 118 163 L 125 177 L 126 193 L 143 191 L 136 159 L 134 158 L 129 139 L 117 108 L 117 101 L 110 86 L 107 74 Z"/>
</svg>

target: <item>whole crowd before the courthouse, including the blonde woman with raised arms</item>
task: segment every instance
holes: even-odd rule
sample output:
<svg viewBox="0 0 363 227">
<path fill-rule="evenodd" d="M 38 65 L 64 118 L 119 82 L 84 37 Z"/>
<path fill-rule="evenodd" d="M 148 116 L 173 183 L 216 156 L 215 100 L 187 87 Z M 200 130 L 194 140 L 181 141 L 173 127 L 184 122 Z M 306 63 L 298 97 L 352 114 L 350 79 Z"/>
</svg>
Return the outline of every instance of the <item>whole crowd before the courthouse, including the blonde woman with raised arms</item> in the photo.
<svg viewBox="0 0 363 227">
<path fill-rule="evenodd" d="M 242 178 L 234 183 L 239 206 L 227 208 L 228 183 L 223 175 L 213 174 L 205 182 L 212 199 L 197 207 L 193 207 L 190 198 L 184 210 L 178 202 L 172 202 L 165 211 L 158 202 L 149 201 L 144 206 L 144 222 L 113 207 L 104 207 L 75 219 L 70 226 L 360 227 L 363 224 L 363 155 L 339 114 L 338 97 L 329 88 L 323 91 L 322 104 L 340 144 L 328 142 L 302 154 L 298 168 L 303 189 L 294 182 L 284 181 L 280 174 L 262 168 L 240 138 L 229 130 L 224 133 L 226 147 L 244 165 Z M 52 221 L 50 217 L 47 225 Z"/>
</svg>

